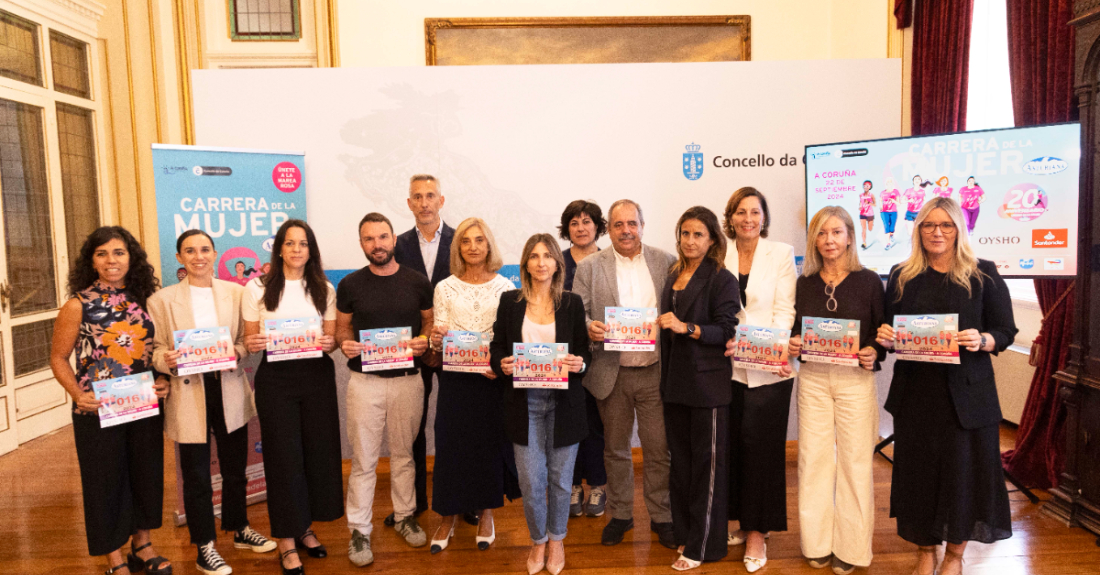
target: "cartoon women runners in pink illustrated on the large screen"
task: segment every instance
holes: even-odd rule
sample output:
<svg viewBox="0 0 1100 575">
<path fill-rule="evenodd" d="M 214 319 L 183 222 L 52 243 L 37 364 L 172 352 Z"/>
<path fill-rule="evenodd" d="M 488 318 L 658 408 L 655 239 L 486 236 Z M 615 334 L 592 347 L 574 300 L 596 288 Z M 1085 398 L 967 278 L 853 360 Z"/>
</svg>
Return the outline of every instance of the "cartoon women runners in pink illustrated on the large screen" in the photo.
<svg viewBox="0 0 1100 575">
<path fill-rule="evenodd" d="M 864 180 L 864 192 L 859 195 L 859 246 L 864 250 L 870 247 L 870 244 L 867 243 L 867 232 L 875 231 L 875 210 L 878 207 L 878 201 L 876 201 L 875 192 L 871 191 L 873 187 L 875 184 L 871 180 Z M 941 176 L 933 184 L 916 174 L 913 176 L 913 187 L 908 188 L 904 193 L 898 191 L 893 178 L 887 178 L 886 189 L 879 195 L 882 200 L 879 215 L 882 218 L 882 232 L 887 237 L 884 248 L 890 250 L 897 245 L 893 236 L 898 224 L 898 202 L 900 200 L 905 200 L 905 231 L 908 235 L 912 236 L 916 217 L 924 206 L 925 198 L 950 198 L 954 191 L 955 188 L 950 187 L 950 180 L 947 176 Z M 966 219 L 967 233 L 972 234 L 975 225 L 978 224 L 978 214 L 981 213 L 981 203 L 986 201 L 986 190 L 981 189 L 974 176 L 970 176 L 966 180 L 966 186 L 959 188 L 958 193 L 958 204 Z"/>
</svg>

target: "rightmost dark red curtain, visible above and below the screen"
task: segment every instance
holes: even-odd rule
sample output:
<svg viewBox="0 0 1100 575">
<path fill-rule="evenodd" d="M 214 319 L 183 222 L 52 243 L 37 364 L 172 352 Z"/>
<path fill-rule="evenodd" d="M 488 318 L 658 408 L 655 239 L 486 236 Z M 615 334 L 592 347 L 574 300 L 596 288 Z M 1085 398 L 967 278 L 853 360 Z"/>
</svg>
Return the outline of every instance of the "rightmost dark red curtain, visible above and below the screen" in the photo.
<svg viewBox="0 0 1100 575">
<path fill-rule="evenodd" d="M 1072 103 L 1074 29 L 1068 25 L 1072 4 L 1072 0 L 1008 0 L 1012 110 L 1018 126 L 1077 118 Z M 1002 455 L 1005 471 L 1025 485 L 1044 489 L 1058 485 L 1066 450 L 1066 413 L 1058 400 L 1058 383 L 1052 376 L 1066 365 L 1076 290 L 1053 311 L 1052 307 L 1069 285 L 1069 280 L 1035 280 L 1040 308 L 1046 316 L 1035 339 L 1042 353 L 1016 432 L 1016 449 Z"/>
</svg>

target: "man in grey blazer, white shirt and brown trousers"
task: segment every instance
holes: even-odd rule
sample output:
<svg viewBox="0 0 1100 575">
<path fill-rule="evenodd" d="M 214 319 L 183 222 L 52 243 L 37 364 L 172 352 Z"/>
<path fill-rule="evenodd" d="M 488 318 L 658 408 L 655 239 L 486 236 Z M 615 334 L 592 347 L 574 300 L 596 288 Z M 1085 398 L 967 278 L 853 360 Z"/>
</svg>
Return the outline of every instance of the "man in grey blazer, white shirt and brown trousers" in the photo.
<svg viewBox="0 0 1100 575">
<path fill-rule="evenodd" d="M 634 528 L 634 462 L 630 439 L 635 414 L 642 452 L 642 486 L 650 529 L 660 543 L 675 549 L 669 510 L 669 449 L 661 402 L 660 342 L 653 352 L 604 351 L 604 308 L 656 308 L 675 257 L 642 245 L 646 222 L 641 207 L 618 200 L 607 212 L 613 250 L 603 250 L 576 267 L 573 292 L 584 300 L 592 365 L 584 378 L 604 422 L 604 463 L 607 467 L 607 506 L 610 521 L 602 542 L 615 545 Z"/>
</svg>

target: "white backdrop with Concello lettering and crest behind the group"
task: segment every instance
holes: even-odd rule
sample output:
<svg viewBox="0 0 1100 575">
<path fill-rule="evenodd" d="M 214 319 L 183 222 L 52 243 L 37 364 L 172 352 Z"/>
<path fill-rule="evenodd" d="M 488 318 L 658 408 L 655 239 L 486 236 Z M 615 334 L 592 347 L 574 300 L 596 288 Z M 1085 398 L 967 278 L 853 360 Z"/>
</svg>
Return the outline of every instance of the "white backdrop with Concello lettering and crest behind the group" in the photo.
<svg viewBox="0 0 1100 575">
<path fill-rule="evenodd" d="M 769 198 L 770 237 L 802 255 L 803 147 L 901 125 L 900 59 L 195 70 L 193 87 L 197 144 L 306 152 L 309 220 L 334 277 L 365 264 L 366 212 L 413 226 L 417 173 L 441 179 L 451 225 L 488 222 L 506 264 L 532 233 L 556 233 L 574 199 L 634 199 L 646 243 L 672 251 L 686 208 L 721 218 L 741 186 Z M 691 144 L 704 156 L 694 180 Z M 716 167 L 716 156 L 773 165 Z M 792 411 L 792 438 L 795 422 Z"/>
</svg>

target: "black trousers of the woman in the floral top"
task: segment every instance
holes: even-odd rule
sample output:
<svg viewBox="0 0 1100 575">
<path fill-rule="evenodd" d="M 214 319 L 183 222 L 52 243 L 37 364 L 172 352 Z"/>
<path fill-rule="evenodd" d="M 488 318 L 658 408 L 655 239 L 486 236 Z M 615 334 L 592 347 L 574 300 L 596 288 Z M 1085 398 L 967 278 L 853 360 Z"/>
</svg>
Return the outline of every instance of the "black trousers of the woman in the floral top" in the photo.
<svg viewBox="0 0 1100 575">
<path fill-rule="evenodd" d="M 163 412 L 163 411 L 162 411 Z M 164 417 L 100 429 L 99 416 L 73 414 L 88 553 L 118 551 L 138 530 L 161 527 Z"/>
</svg>

